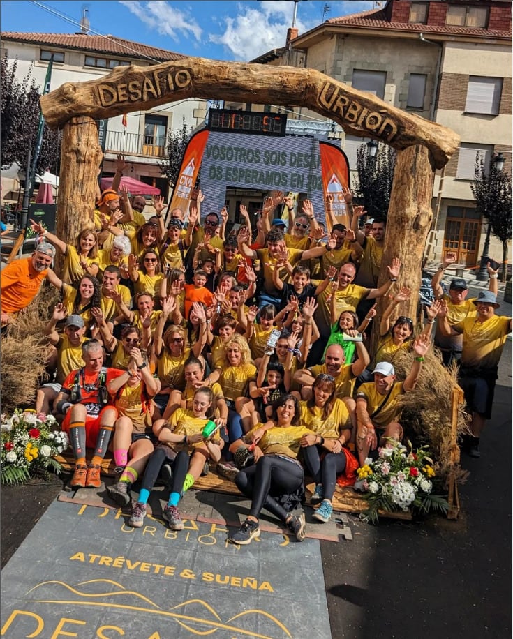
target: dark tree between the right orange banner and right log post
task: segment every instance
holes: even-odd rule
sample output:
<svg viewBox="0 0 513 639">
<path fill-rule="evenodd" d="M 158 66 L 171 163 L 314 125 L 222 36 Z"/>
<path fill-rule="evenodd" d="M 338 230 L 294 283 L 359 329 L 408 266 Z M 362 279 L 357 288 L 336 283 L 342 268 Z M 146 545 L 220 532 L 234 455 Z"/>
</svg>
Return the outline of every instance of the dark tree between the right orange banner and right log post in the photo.
<svg viewBox="0 0 513 639">
<path fill-rule="evenodd" d="M 396 165 L 396 151 L 392 146 L 378 144 L 373 158 L 362 144 L 356 151 L 358 178 L 353 193 L 356 202 L 364 207 L 371 218 L 387 218 L 392 181 Z"/>
</svg>

